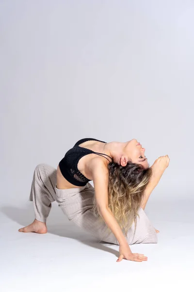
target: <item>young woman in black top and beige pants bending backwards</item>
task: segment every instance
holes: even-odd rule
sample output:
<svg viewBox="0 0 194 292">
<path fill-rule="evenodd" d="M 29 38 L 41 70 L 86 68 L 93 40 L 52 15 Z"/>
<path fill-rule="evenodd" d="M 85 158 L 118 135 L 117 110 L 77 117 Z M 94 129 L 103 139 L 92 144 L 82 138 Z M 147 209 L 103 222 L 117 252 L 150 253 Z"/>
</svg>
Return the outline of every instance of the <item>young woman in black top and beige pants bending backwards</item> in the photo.
<svg viewBox="0 0 194 292">
<path fill-rule="evenodd" d="M 117 261 L 147 260 L 129 245 L 158 242 L 159 231 L 144 209 L 169 157 L 161 156 L 149 167 L 144 154 L 136 139 L 106 143 L 84 138 L 66 152 L 57 169 L 38 164 L 29 198 L 35 219 L 18 231 L 46 233 L 51 202 L 57 201 L 69 220 L 99 240 L 119 245 Z"/>
</svg>

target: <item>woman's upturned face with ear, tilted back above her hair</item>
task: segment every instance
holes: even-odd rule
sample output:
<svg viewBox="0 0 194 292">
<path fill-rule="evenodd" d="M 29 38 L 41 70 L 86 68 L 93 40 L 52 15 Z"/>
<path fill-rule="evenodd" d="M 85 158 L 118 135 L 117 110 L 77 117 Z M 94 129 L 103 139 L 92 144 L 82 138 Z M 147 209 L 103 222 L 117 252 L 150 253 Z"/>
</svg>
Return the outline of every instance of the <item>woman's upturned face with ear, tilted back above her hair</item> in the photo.
<svg viewBox="0 0 194 292">
<path fill-rule="evenodd" d="M 132 163 L 142 164 L 145 168 L 149 167 L 147 162 L 147 158 L 144 155 L 145 148 L 139 143 L 136 139 L 132 139 L 126 143 L 125 153 L 126 155 L 122 155 L 121 157 L 121 165 L 125 166 L 129 159 L 132 160 Z"/>
</svg>

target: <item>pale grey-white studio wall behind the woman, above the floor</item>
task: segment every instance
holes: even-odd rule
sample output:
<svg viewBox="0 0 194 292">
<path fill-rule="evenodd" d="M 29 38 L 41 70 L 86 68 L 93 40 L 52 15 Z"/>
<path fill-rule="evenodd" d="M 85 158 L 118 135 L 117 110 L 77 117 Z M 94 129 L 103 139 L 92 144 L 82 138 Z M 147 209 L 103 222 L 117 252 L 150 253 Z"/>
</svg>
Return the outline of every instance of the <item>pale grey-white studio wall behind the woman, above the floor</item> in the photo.
<svg viewBox="0 0 194 292">
<path fill-rule="evenodd" d="M 85 137 L 168 154 L 153 196 L 193 197 L 193 15 L 192 0 L 1 0 L 1 206 Z"/>
</svg>

